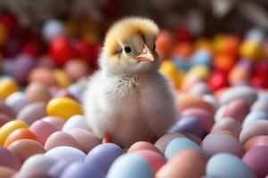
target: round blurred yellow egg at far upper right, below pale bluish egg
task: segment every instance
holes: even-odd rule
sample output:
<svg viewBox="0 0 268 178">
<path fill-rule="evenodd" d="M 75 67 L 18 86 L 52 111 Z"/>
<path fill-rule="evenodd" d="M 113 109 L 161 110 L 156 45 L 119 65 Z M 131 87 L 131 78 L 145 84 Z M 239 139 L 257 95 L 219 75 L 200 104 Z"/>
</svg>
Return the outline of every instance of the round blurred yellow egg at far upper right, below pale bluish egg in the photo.
<svg viewBox="0 0 268 178">
<path fill-rule="evenodd" d="M 255 61 L 262 54 L 262 44 L 254 40 L 247 40 L 241 44 L 239 53 L 247 60 Z"/>
</svg>

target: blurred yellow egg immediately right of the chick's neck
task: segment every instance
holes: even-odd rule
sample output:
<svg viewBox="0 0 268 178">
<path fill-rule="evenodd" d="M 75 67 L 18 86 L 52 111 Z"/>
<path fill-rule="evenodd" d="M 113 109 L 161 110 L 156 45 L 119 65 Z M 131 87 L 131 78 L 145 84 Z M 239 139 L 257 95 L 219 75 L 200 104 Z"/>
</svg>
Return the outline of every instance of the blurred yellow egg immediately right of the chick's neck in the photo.
<svg viewBox="0 0 268 178">
<path fill-rule="evenodd" d="M 160 72 L 168 77 L 176 88 L 180 87 L 183 76 L 180 72 L 180 69 L 175 66 L 173 61 L 163 61 Z"/>
</svg>

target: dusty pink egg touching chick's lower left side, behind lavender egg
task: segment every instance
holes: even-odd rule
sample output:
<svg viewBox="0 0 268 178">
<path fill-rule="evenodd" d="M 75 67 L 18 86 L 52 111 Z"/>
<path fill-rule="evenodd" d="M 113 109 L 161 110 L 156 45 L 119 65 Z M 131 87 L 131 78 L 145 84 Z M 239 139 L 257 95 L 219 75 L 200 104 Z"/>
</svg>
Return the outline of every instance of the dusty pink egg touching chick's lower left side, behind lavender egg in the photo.
<svg viewBox="0 0 268 178">
<path fill-rule="evenodd" d="M 88 153 L 94 147 L 102 143 L 102 141 L 94 134 L 83 128 L 71 129 L 68 134 L 71 134 L 71 136 L 80 143 L 80 146 L 85 153 Z"/>
</svg>

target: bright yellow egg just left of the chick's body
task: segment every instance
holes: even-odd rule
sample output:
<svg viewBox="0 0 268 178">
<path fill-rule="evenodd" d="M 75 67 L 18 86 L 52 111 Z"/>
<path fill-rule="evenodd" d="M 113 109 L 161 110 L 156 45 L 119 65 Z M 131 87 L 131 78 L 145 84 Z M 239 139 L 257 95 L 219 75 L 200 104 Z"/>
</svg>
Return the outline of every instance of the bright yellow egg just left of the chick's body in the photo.
<svg viewBox="0 0 268 178">
<path fill-rule="evenodd" d="M 83 111 L 80 103 L 71 98 L 55 98 L 47 103 L 46 113 L 67 120 L 73 115 L 82 114 Z"/>
</svg>

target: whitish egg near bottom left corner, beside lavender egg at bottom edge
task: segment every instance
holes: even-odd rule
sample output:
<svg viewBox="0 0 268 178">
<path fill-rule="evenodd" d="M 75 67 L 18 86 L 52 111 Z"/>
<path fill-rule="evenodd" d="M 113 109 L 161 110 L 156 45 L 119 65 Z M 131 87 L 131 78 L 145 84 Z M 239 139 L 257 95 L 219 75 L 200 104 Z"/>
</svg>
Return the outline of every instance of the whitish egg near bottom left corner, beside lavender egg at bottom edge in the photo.
<svg viewBox="0 0 268 178">
<path fill-rule="evenodd" d="M 32 169 L 42 170 L 47 172 L 50 167 L 56 163 L 54 158 L 43 154 L 37 154 L 29 157 L 21 166 L 20 172 L 29 172 Z"/>
</svg>

